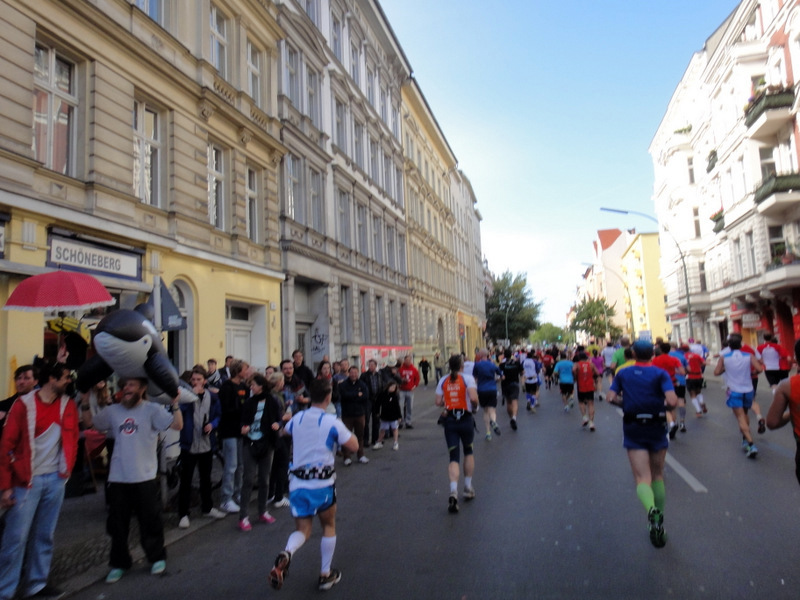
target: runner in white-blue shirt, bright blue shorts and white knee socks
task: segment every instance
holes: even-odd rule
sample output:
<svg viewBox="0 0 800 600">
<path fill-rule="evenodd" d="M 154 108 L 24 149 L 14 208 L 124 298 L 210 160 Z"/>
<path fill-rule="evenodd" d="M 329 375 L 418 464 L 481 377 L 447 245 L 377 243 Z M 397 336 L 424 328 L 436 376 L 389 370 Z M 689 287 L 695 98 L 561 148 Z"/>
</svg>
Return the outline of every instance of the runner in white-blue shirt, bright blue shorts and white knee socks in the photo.
<svg viewBox="0 0 800 600">
<path fill-rule="evenodd" d="M 296 413 L 286 424 L 285 434 L 292 436 L 292 463 L 289 467 L 289 503 L 296 530 L 289 536 L 286 548 L 275 559 L 269 581 L 281 589 L 294 553 L 311 536 L 314 515 L 322 525 L 320 554 L 322 566 L 319 589 L 329 590 L 342 579 L 342 572 L 331 568 L 336 549 L 336 472 L 334 457 L 337 446 L 356 452 L 358 438 L 350 433 L 336 415 L 328 414 L 331 403 L 331 382 L 311 382 L 311 406 Z"/>
</svg>

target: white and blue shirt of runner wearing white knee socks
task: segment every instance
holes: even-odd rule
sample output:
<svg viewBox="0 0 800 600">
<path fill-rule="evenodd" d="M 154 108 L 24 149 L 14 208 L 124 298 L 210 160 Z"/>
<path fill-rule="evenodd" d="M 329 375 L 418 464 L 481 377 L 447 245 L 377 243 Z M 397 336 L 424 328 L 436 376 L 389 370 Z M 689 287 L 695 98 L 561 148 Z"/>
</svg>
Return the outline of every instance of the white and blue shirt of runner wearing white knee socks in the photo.
<svg viewBox="0 0 800 600">
<path fill-rule="evenodd" d="M 352 433 L 344 423 L 317 406 L 296 413 L 286 424 L 286 433 L 292 436 L 292 464 L 289 470 L 313 467 L 333 467 L 338 446 L 347 443 Z M 316 490 L 333 485 L 330 479 L 300 479 L 289 476 L 289 491 Z"/>
</svg>

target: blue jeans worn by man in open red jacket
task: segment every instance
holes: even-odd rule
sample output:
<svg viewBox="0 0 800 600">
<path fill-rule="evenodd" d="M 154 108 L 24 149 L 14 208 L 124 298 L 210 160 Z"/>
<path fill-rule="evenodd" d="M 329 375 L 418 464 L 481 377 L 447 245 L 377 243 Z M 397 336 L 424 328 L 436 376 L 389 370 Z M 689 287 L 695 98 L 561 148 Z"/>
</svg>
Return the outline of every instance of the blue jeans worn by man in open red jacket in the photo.
<svg viewBox="0 0 800 600">
<path fill-rule="evenodd" d="M 15 487 L 16 504 L 6 513 L 0 544 L 0 600 L 32 596 L 47 585 L 53 559 L 53 535 L 67 480 L 58 473 L 36 475 L 30 488 Z M 23 558 L 25 573 L 22 572 Z"/>
</svg>

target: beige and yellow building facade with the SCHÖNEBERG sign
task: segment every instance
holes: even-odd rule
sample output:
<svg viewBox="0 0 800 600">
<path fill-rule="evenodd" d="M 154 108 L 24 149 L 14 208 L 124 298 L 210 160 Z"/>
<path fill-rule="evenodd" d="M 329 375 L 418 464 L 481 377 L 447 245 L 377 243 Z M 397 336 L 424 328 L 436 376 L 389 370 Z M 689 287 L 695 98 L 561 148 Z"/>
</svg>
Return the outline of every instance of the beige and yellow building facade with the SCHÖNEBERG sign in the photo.
<svg viewBox="0 0 800 600">
<path fill-rule="evenodd" d="M 0 302 L 51 268 L 127 308 L 163 281 L 179 369 L 280 358 L 277 18 L 250 0 L 0 0 Z M 0 387 L 53 351 L 46 317 L 0 312 Z"/>
</svg>

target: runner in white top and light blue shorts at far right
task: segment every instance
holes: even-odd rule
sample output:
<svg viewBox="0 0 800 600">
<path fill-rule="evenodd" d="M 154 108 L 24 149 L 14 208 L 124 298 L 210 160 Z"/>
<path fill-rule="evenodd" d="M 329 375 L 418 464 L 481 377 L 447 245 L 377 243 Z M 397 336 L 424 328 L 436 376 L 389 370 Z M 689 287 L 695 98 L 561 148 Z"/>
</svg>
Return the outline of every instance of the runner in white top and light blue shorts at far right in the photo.
<svg viewBox="0 0 800 600">
<path fill-rule="evenodd" d="M 742 351 L 742 336 L 738 333 L 728 336 L 728 348 L 720 353 L 714 375 L 719 377 L 725 373 L 729 391 L 726 404 L 733 410 L 733 416 L 739 424 L 739 431 L 742 432 L 742 450 L 747 458 L 755 458 L 758 454 L 758 448 L 753 444 L 753 436 L 750 433 L 750 417 L 747 411 L 753 402 L 753 382 L 750 373 L 760 372 L 760 369 L 756 357 Z"/>
</svg>

